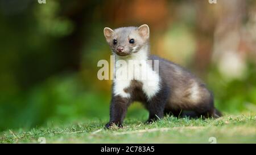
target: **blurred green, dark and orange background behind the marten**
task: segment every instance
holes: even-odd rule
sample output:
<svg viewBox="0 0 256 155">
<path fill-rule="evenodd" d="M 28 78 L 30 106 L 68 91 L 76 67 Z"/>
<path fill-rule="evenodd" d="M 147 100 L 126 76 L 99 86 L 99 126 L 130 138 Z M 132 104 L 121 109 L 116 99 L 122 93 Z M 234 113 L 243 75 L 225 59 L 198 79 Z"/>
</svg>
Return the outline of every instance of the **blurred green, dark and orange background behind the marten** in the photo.
<svg viewBox="0 0 256 155">
<path fill-rule="evenodd" d="M 189 68 L 226 114 L 256 112 L 256 1 L 0 0 L 0 130 L 109 117 L 104 27 L 151 30 L 151 53 Z M 139 104 L 128 117 L 146 118 Z"/>
</svg>

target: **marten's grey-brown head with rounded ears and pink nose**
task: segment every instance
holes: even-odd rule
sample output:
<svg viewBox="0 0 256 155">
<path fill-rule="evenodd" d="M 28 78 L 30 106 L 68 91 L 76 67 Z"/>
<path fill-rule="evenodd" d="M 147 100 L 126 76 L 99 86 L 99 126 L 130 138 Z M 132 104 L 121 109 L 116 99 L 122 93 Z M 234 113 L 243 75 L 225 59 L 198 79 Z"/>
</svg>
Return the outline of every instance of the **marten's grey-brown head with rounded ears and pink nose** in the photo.
<svg viewBox="0 0 256 155">
<path fill-rule="evenodd" d="M 148 44 L 150 29 L 146 24 L 140 27 L 122 27 L 114 30 L 106 27 L 104 36 L 112 51 L 125 57 L 137 53 Z"/>
</svg>

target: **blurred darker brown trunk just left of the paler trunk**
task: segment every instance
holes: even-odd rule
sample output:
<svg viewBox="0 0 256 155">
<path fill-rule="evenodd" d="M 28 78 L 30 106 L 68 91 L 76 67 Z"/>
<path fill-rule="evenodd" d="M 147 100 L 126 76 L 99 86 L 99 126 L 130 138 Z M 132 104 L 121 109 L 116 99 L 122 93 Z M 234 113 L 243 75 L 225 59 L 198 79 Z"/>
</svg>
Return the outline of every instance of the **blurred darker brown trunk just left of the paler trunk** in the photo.
<svg viewBox="0 0 256 155">
<path fill-rule="evenodd" d="M 203 74 L 208 69 L 213 47 L 213 34 L 216 26 L 216 16 L 214 8 L 217 5 L 205 1 L 196 1 L 196 25 L 195 33 L 197 40 L 196 55 L 194 59 L 195 71 Z"/>
</svg>

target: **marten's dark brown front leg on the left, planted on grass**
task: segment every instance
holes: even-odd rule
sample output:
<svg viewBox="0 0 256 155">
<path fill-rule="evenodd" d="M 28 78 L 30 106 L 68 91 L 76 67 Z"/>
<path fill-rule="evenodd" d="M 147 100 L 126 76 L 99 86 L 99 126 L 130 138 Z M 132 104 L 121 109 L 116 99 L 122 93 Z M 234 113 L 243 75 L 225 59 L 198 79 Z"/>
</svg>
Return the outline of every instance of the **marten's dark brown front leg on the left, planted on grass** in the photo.
<svg viewBox="0 0 256 155">
<path fill-rule="evenodd" d="M 123 119 L 125 118 L 129 105 L 129 98 L 113 96 L 110 104 L 110 120 L 105 127 L 110 128 L 114 124 L 118 127 L 122 127 Z"/>
</svg>

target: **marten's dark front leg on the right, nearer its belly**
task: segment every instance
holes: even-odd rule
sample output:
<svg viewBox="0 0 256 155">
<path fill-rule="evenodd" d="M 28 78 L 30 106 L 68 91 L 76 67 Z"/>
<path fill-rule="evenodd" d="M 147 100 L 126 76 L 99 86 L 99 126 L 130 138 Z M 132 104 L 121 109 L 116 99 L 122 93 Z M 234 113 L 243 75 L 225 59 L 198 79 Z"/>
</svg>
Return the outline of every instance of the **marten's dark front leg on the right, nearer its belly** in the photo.
<svg viewBox="0 0 256 155">
<path fill-rule="evenodd" d="M 147 124 L 164 117 L 164 107 L 167 104 L 169 92 L 168 87 L 164 87 L 154 97 L 147 101 L 146 105 L 149 111 L 149 117 L 146 122 Z"/>
</svg>

